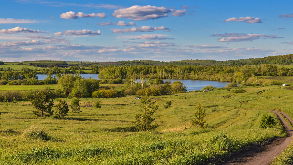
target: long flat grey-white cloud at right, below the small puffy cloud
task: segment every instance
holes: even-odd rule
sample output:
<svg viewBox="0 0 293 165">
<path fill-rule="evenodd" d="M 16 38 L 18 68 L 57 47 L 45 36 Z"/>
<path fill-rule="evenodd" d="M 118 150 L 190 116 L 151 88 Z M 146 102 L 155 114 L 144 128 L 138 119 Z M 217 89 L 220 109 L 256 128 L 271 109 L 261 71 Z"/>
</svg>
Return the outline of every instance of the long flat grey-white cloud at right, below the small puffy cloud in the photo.
<svg viewBox="0 0 293 165">
<path fill-rule="evenodd" d="M 245 34 L 245 33 L 225 33 L 225 34 L 214 33 L 211 36 L 220 37 L 220 38 L 218 38 L 219 42 L 252 41 L 252 40 L 257 40 L 260 38 L 270 38 L 270 39 L 283 38 L 283 37 L 279 37 L 277 35 Z"/>
</svg>

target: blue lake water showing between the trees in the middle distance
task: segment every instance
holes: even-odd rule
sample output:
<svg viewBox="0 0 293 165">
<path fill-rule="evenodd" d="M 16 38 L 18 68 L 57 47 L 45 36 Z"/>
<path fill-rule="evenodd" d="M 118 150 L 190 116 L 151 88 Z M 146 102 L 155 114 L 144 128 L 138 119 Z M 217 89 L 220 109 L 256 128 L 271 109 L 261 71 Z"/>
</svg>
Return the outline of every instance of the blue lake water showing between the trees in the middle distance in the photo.
<svg viewBox="0 0 293 165">
<path fill-rule="evenodd" d="M 84 78 L 91 77 L 93 79 L 99 79 L 99 74 L 79 74 L 80 76 Z M 46 74 L 37 74 L 38 80 L 45 79 L 47 77 Z M 53 74 L 53 77 L 55 74 Z M 224 81 L 210 81 L 210 80 L 189 80 L 189 79 L 162 79 L 163 81 L 171 81 L 173 83 L 174 81 L 180 81 L 182 82 L 186 88 L 187 91 L 194 91 L 194 90 L 201 90 L 204 86 L 212 85 L 217 88 L 224 87 L 226 84 L 229 84 L 230 82 L 224 82 Z M 137 82 L 140 82 L 140 79 L 136 80 Z"/>
</svg>

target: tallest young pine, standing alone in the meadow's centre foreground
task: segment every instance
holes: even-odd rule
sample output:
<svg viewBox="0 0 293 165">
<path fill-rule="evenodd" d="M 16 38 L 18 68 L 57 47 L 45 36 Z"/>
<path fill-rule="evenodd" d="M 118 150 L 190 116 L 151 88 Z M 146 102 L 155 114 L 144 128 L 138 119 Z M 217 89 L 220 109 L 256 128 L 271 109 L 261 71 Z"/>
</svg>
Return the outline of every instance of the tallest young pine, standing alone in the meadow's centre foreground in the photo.
<svg viewBox="0 0 293 165">
<path fill-rule="evenodd" d="M 151 123 L 155 120 L 155 118 L 151 118 L 154 115 L 154 112 L 159 108 L 159 105 L 155 105 L 156 101 L 151 102 L 151 98 L 147 97 L 146 95 L 142 97 L 140 101 L 140 110 L 141 113 L 136 114 L 134 116 L 135 123 L 137 130 L 142 131 L 150 131 L 155 130 L 158 127 L 158 124 L 151 125 Z"/>
</svg>

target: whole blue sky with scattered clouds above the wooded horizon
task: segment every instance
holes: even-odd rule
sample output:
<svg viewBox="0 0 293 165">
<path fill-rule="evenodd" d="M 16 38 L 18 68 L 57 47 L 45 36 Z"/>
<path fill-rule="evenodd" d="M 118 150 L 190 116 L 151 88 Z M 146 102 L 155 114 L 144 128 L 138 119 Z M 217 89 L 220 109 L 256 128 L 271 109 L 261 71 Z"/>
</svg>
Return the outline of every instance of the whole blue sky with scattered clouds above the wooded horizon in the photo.
<svg viewBox="0 0 293 165">
<path fill-rule="evenodd" d="M 292 6 L 292 1 L 2 0 L 0 60 L 229 60 L 292 54 Z"/>
</svg>

